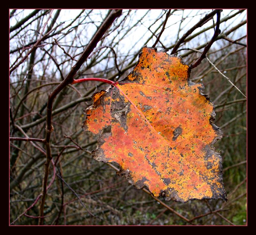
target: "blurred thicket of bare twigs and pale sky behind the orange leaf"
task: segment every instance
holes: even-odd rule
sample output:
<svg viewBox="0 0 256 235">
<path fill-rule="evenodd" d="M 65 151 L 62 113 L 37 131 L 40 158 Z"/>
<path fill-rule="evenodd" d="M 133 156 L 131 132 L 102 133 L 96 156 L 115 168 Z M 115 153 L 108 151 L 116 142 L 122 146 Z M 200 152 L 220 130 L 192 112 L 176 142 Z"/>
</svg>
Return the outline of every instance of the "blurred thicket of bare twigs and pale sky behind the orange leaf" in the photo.
<svg viewBox="0 0 256 235">
<path fill-rule="evenodd" d="M 211 11 L 123 10 L 74 78 L 120 80 L 132 71 L 144 45 L 151 47 L 156 42 L 158 50 L 168 49 L 170 54 L 182 35 Z M 67 76 L 109 12 L 10 10 L 10 69 L 43 37 L 10 75 L 10 136 L 45 137 L 48 94 Z M 215 105 L 214 123 L 222 130 L 223 138 L 214 148 L 223 158 L 228 202 L 165 202 L 160 197 L 159 202 L 117 176 L 109 165 L 92 159 L 97 136 L 82 130 L 83 110 L 92 104 L 92 94 L 105 90 L 108 84 L 88 81 L 68 85 L 53 103 L 52 157 L 59 159 L 56 173 L 63 180 L 55 177 L 47 192 L 44 224 L 246 225 L 246 19 L 246 10 L 221 12 L 221 32 L 207 56 L 222 74 L 204 59 L 190 76 L 193 82 L 204 84 L 204 94 Z M 216 15 L 179 46 L 176 53 L 186 64 L 194 63 L 200 56 L 192 49 L 203 51 L 215 25 Z M 19 218 L 15 225 L 38 224 L 35 217 L 39 215 L 39 202 L 27 215 L 20 215 L 41 193 L 44 162 L 43 143 L 10 142 L 10 223 Z M 52 175 L 50 166 L 49 182 Z"/>
</svg>

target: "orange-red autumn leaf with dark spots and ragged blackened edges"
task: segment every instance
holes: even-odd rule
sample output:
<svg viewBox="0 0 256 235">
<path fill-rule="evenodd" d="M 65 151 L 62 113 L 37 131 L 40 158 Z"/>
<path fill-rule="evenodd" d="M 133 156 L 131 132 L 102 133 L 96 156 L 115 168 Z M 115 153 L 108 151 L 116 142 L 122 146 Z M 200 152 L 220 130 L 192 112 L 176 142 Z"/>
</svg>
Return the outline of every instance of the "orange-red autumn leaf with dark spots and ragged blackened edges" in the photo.
<svg viewBox="0 0 256 235">
<path fill-rule="evenodd" d="M 143 47 L 127 77 L 92 96 L 83 128 L 99 136 L 93 158 L 119 164 L 117 174 L 136 188 L 166 201 L 226 200 L 212 148 L 222 132 L 203 84 L 189 74 L 180 57 Z"/>
</svg>

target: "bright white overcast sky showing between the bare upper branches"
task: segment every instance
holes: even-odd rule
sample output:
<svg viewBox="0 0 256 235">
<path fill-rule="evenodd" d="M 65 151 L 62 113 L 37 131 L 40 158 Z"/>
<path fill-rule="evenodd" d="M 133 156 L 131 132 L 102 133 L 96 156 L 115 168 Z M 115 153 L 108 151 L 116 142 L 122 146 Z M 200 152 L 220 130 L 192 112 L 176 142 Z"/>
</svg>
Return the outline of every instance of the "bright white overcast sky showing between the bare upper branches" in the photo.
<svg viewBox="0 0 256 235">
<path fill-rule="evenodd" d="M 11 11 L 11 10 L 10 10 Z M 10 20 L 10 26 L 14 26 L 17 23 L 17 20 L 20 20 L 21 18 L 24 18 L 26 15 L 28 15 L 30 12 L 32 12 L 33 10 L 25 10 L 25 11 L 21 11 L 21 10 L 17 10 L 14 14 L 14 16 L 11 18 Z M 52 17 L 54 16 L 55 12 L 57 10 L 54 10 L 52 12 Z M 84 13 L 82 14 L 82 16 L 85 16 L 90 10 L 85 10 Z M 104 16 L 106 15 L 108 10 L 93 10 L 91 14 L 91 18 L 87 19 L 88 21 L 95 21 L 96 25 L 99 26 L 102 18 L 104 18 Z M 123 15 L 126 15 L 127 12 L 129 10 L 123 10 Z M 135 10 L 132 10 L 135 11 Z M 136 14 L 134 15 L 134 17 L 131 19 L 131 21 L 127 21 L 127 27 L 132 26 L 135 22 L 137 22 L 148 10 L 137 10 Z M 181 23 L 181 30 L 179 33 L 179 37 L 181 37 L 185 32 L 188 31 L 189 28 L 191 28 L 192 26 L 194 26 L 201 18 L 203 18 L 205 16 L 205 12 L 209 13 L 212 10 L 184 10 L 183 13 L 183 18 L 184 20 Z M 236 11 L 238 10 L 223 10 L 221 12 L 221 18 L 226 17 L 229 14 L 234 14 Z M 58 28 L 58 30 L 62 27 L 65 27 L 66 25 L 68 25 L 79 13 L 81 12 L 81 9 L 77 9 L 77 10 L 61 10 L 60 11 L 60 16 L 57 20 L 57 23 L 59 24 L 60 22 L 66 21 L 65 24 L 63 24 L 62 26 L 60 26 Z M 164 33 L 162 34 L 160 41 L 166 46 L 170 46 L 171 44 L 175 43 L 177 40 L 177 32 L 179 29 L 179 25 L 180 25 L 180 19 L 182 17 L 182 12 L 183 11 L 175 11 L 173 13 L 173 15 L 170 16 L 170 18 L 167 21 L 167 24 L 165 26 L 165 30 Z M 99 16 L 98 13 L 102 14 L 102 17 Z M 156 18 L 159 17 L 159 15 L 162 13 L 162 10 L 151 10 L 150 13 L 141 20 L 142 24 L 138 24 L 137 27 L 134 27 L 126 36 L 125 38 L 120 41 L 120 43 L 115 47 L 116 50 L 116 54 L 119 57 L 119 59 L 122 59 L 122 55 L 126 54 L 128 51 L 130 51 L 130 54 L 132 53 L 136 53 L 138 50 L 140 50 L 140 48 L 142 46 L 144 46 L 144 42 L 148 39 L 148 37 L 151 36 L 151 33 L 148 30 L 148 27 L 153 24 L 153 22 L 155 21 Z M 202 13 L 204 13 L 202 15 Z M 237 25 L 238 23 L 240 23 L 241 21 L 246 19 L 246 14 L 247 11 L 245 10 L 244 12 L 242 12 L 241 14 L 236 15 L 236 17 L 231 18 L 230 20 L 222 23 L 220 25 L 220 29 L 223 32 L 223 30 L 225 29 L 230 29 L 233 26 Z M 38 14 L 37 14 L 38 15 Z M 48 17 L 48 15 L 47 15 Z M 44 22 L 46 21 L 47 17 L 44 17 Z M 157 24 L 155 26 L 152 26 L 150 29 L 151 31 L 155 31 L 156 27 L 160 24 L 160 22 L 163 21 L 163 19 L 165 19 L 165 15 L 157 22 Z M 28 21 L 29 22 L 29 21 Z M 26 23 L 28 23 L 26 22 Z M 49 20 L 48 23 L 50 23 L 51 20 Z M 78 22 L 78 21 L 76 21 Z M 73 25 L 76 25 L 76 22 Z M 214 22 L 216 22 L 216 15 L 214 16 Z M 26 24 L 25 23 L 25 24 Z M 34 21 L 34 29 L 36 28 L 36 24 L 37 22 Z M 212 26 L 213 22 L 212 20 L 208 21 L 203 27 L 201 28 L 197 28 L 192 34 L 202 30 L 203 28 L 206 28 L 208 26 Z M 56 24 L 55 24 L 56 26 Z M 157 31 L 157 33 L 159 33 L 161 31 L 162 26 L 160 27 L 160 29 Z M 85 30 L 84 30 L 85 29 Z M 17 31 L 17 30 L 16 30 Z M 12 32 L 11 36 L 16 32 Z M 86 27 L 85 25 L 80 25 L 77 29 L 77 31 L 81 32 L 81 36 L 80 36 L 80 41 L 76 40 L 75 43 L 73 45 L 77 46 L 81 46 L 82 45 L 86 45 L 88 43 L 88 40 L 91 38 L 92 34 L 96 31 L 96 26 L 93 24 L 87 24 Z M 12 39 L 10 41 L 10 50 L 17 48 L 17 40 L 20 40 L 20 37 L 22 39 L 26 39 L 28 38 L 29 42 L 29 37 L 28 34 L 30 33 L 34 33 L 33 31 L 30 30 L 30 32 L 28 31 L 27 33 L 19 33 L 19 35 L 16 36 L 15 39 Z M 156 34 L 157 34 L 156 33 Z M 199 36 L 197 36 L 195 39 L 191 40 L 191 42 L 188 43 L 188 45 L 186 45 L 186 47 L 192 46 L 192 47 L 196 47 L 198 45 L 195 45 L 196 43 L 200 43 L 203 44 L 204 42 L 206 42 L 207 40 L 210 40 L 212 35 L 213 35 L 214 31 L 213 29 L 208 30 L 206 33 L 201 34 Z M 247 33 L 247 27 L 246 24 L 242 27 L 240 27 L 238 30 L 236 30 L 234 33 L 231 33 L 228 37 L 235 40 L 237 38 L 240 38 L 244 35 L 246 35 Z M 112 33 L 112 36 L 109 35 L 108 38 L 109 40 L 111 40 L 114 35 L 116 35 L 117 32 Z M 63 38 L 62 40 L 58 40 L 60 44 L 64 44 L 64 45 L 72 45 L 73 43 L 73 38 L 72 36 L 74 36 L 74 32 L 72 32 L 70 35 L 68 35 L 67 37 Z M 116 42 L 118 42 L 119 38 L 122 35 L 117 35 L 116 37 Z M 141 40 L 139 42 L 137 42 L 139 39 L 141 38 Z M 49 39 L 49 41 L 52 41 L 53 39 Z M 154 41 L 156 40 L 155 37 L 153 37 L 153 39 L 151 41 L 148 42 L 148 46 L 152 46 L 152 44 L 154 43 Z M 245 39 L 246 40 L 246 39 Z M 104 45 L 107 45 L 107 41 L 104 42 Z M 160 44 L 158 44 L 160 45 Z M 218 47 L 218 43 L 213 43 L 212 47 Z M 182 48 L 182 46 L 180 46 L 180 48 Z M 60 56 L 62 55 L 62 51 L 59 48 L 59 53 Z M 24 54 L 25 55 L 25 54 Z M 24 56 L 23 55 L 23 56 Z M 17 58 L 17 54 L 13 53 L 10 55 L 10 63 L 12 64 L 15 59 Z M 77 58 L 76 58 L 77 59 Z M 58 61 L 60 62 L 60 61 Z M 106 64 L 106 62 L 105 62 Z M 52 65 L 54 67 L 54 65 Z M 104 67 L 104 62 L 103 64 L 99 64 L 99 66 L 103 66 Z M 56 68 L 55 68 L 56 69 Z M 39 69 L 38 69 L 39 71 Z"/>
</svg>

